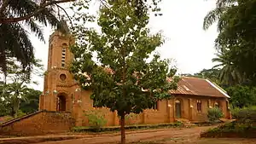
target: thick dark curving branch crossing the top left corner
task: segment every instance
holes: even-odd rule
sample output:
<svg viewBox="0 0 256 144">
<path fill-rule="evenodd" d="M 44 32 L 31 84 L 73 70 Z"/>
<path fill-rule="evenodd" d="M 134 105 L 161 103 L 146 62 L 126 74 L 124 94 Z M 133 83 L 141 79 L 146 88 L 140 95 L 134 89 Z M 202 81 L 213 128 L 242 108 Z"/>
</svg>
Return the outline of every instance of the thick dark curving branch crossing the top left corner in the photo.
<svg viewBox="0 0 256 144">
<path fill-rule="evenodd" d="M 73 2 L 75 0 L 58 0 L 58 1 L 49 1 L 49 3 L 44 3 L 39 6 L 39 9 L 33 12 L 32 14 L 27 14 L 25 16 L 20 16 L 17 18 L 0 18 L 0 24 L 9 24 L 13 22 L 18 22 L 21 20 L 27 20 L 32 18 L 34 15 L 39 14 L 41 11 L 43 11 L 47 6 L 58 4 L 58 3 L 67 3 L 67 2 Z"/>
</svg>

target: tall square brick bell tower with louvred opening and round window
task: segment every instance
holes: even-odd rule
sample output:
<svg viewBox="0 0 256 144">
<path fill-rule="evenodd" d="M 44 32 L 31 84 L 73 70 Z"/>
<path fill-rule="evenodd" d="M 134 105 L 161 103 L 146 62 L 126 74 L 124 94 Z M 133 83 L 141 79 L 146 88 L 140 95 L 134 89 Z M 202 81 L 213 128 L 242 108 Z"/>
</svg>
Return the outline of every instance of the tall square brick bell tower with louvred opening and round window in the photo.
<svg viewBox="0 0 256 144">
<path fill-rule="evenodd" d="M 77 84 L 69 72 L 73 54 L 73 37 L 59 31 L 49 36 L 47 71 L 44 74 L 44 92 L 40 96 L 39 110 L 72 111 L 73 87 Z"/>
</svg>

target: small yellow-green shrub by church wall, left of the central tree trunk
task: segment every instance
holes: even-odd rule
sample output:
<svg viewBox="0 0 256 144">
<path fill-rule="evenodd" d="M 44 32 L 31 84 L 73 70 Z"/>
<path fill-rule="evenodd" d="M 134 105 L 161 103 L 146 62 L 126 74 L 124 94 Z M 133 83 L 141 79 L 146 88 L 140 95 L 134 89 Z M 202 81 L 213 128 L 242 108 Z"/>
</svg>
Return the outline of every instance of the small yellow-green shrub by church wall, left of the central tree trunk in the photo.
<svg viewBox="0 0 256 144">
<path fill-rule="evenodd" d="M 100 129 L 107 124 L 107 119 L 105 118 L 104 113 L 100 110 L 84 111 L 84 115 L 88 118 L 89 126 L 94 129 Z"/>
</svg>

